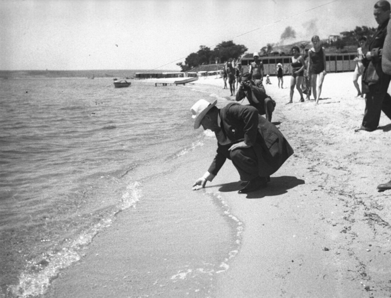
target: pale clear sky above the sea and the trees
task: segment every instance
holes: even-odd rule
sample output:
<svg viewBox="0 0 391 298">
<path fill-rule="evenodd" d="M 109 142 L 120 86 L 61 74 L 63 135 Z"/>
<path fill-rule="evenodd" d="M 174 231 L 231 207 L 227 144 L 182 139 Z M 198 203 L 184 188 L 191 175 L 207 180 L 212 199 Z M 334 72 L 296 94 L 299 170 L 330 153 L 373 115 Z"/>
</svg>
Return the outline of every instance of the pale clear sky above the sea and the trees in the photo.
<svg viewBox="0 0 391 298">
<path fill-rule="evenodd" d="M 377 27 L 371 0 L 0 0 L 0 70 L 172 69 L 222 41 Z M 291 26 L 296 39 L 281 40 Z"/>
</svg>

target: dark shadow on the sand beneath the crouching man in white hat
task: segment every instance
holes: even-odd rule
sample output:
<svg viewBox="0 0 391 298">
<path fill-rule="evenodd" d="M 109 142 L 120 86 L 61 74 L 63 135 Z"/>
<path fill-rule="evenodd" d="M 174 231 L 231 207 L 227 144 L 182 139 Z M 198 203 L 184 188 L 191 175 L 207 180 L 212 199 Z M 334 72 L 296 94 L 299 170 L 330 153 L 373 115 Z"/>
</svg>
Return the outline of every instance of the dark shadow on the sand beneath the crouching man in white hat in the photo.
<svg viewBox="0 0 391 298">
<path fill-rule="evenodd" d="M 243 185 L 240 185 L 241 181 L 225 183 L 220 186 L 219 191 L 221 192 L 232 192 L 238 191 L 243 188 Z M 304 184 L 305 181 L 301 179 L 297 179 L 294 176 L 280 176 L 280 177 L 271 177 L 270 182 L 267 183 L 267 187 L 262 188 L 260 190 L 256 190 L 254 192 L 250 192 L 247 194 L 248 199 L 260 199 L 266 196 L 278 196 L 280 194 L 285 194 L 288 192 L 288 189 L 294 188 L 298 185 Z M 242 196 L 242 194 L 238 194 Z"/>
</svg>

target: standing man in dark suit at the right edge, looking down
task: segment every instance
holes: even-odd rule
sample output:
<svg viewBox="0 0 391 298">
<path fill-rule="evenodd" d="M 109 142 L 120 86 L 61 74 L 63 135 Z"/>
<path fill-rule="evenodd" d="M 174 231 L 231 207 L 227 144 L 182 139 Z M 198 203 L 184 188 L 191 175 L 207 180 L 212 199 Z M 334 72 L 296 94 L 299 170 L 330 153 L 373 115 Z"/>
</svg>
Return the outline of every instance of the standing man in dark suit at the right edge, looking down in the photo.
<svg viewBox="0 0 391 298">
<path fill-rule="evenodd" d="M 369 42 L 369 48 L 362 49 L 364 54 L 362 59 L 364 65 L 362 93 L 366 93 L 366 99 L 362 125 L 356 131 L 376 130 L 381 111 L 391 119 L 391 97 L 387 93 L 391 77 L 382 71 L 382 49 L 387 34 L 390 10 L 390 4 L 386 0 L 380 0 L 374 6 L 373 15 L 379 26 Z"/>
</svg>

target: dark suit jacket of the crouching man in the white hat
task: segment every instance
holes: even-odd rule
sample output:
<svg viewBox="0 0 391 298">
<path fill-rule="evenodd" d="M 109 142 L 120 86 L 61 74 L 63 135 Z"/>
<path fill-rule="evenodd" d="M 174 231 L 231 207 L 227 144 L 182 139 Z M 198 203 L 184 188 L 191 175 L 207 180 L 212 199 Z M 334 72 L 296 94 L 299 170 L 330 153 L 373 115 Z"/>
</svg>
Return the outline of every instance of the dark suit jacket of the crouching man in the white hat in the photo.
<svg viewBox="0 0 391 298">
<path fill-rule="evenodd" d="M 293 149 L 274 124 L 258 114 L 256 108 L 231 102 L 220 110 L 221 131 L 215 132 L 217 154 L 208 172 L 216 175 L 232 144 L 245 141 L 253 146 L 258 158 L 259 175 L 270 176 L 293 154 Z"/>
</svg>

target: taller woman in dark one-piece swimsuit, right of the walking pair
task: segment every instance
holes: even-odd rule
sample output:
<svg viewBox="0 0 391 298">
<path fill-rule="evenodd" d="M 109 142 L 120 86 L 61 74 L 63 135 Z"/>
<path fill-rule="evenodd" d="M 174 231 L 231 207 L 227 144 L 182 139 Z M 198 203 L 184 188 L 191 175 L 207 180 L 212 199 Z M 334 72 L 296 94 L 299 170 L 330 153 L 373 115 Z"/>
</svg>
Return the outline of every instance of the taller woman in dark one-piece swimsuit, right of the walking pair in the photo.
<svg viewBox="0 0 391 298">
<path fill-rule="evenodd" d="M 325 48 L 320 44 L 319 36 L 312 36 L 311 41 L 314 47 L 308 51 L 307 75 L 308 77 L 311 76 L 312 94 L 314 94 L 314 99 L 316 99 L 316 104 L 318 104 L 323 80 L 326 75 L 326 54 Z"/>
</svg>

